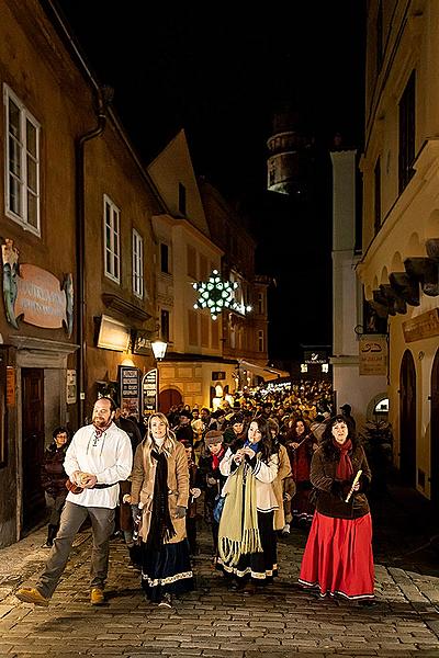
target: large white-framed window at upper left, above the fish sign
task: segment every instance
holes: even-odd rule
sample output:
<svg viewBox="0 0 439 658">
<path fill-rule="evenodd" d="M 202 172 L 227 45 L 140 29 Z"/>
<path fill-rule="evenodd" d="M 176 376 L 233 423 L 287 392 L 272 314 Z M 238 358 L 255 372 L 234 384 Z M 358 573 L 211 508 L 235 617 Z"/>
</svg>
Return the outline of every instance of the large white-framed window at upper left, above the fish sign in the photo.
<svg viewBox="0 0 439 658">
<path fill-rule="evenodd" d="M 7 124 L 5 212 L 40 235 L 40 124 L 4 86 Z"/>
</svg>

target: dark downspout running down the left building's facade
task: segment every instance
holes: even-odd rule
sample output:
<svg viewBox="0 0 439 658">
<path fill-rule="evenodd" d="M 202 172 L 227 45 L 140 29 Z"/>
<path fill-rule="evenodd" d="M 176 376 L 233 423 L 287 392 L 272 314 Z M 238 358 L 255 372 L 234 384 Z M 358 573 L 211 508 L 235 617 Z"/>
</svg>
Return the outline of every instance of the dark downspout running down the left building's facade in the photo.
<svg viewBox="0 0 439 658">
<path fill-rule="evenodd" d="M 98 125 L 88 133 L 77 137 L 75 143 L 76 156 L 76 253 L 77 253 L 77 344 L 78 350 L 78 428 L 86 421 L 86 382 L 87 382 L 87 327 L 86 327 L 86 158 L 85 146 L 87 141 L 102 135 L 106 125 L 108 107 L 113 99 L 110 87 L 98 89 Z"/>
</svg>

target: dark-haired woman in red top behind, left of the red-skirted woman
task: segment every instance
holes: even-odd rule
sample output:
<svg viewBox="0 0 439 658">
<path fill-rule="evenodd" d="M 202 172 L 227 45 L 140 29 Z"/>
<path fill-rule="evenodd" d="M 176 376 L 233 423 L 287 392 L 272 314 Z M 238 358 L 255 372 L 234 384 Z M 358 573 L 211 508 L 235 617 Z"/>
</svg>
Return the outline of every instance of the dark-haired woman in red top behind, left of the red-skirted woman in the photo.
<svg viewBox="0 0 439 658">
<path fill-rule="evenodd" d="M 309 472 L 317 443 L 305 420 L 300 418 L 294 421 L 286 434 L 285 446 L 290 457 L 292 478 L 295 483 L 295 495 L 291 499 L 291 519 L 297 525 L 309 524 L 314 514 L 313 506 L 309 502 L 312 489 Z M 290 526 L 285 525 L 284 533 L 289 532 Z"/>
</svg>

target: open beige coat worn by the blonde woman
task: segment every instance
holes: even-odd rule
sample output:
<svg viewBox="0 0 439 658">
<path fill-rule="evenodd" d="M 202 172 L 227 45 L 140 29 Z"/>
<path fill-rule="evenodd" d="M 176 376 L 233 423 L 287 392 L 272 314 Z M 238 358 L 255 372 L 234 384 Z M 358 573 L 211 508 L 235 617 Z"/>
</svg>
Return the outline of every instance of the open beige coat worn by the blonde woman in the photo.
<svg viewBox="0 0 439 658">
<path fill-rule="evenodd" d="M 140 536 L 146 542 L 149 531 L 150 510 L 153 509 L 154 483 L 156 479 L 157 462 L 150 460 L 150 447 L 143 442 L 136 450 L 134 456 L 133 473 L 131 476 L 131 502 L 132 504 L 144 504 L 142 514 Z M 189 500 L 189 467 L 184 445 L 176 442 L 168 457 L 168 506 L 176 535 L 169 540 L 169 544 L 182 542 L 185 537 L 185 518 L 176 519 L 178 507 L 188 508 Z"/>
</svg>

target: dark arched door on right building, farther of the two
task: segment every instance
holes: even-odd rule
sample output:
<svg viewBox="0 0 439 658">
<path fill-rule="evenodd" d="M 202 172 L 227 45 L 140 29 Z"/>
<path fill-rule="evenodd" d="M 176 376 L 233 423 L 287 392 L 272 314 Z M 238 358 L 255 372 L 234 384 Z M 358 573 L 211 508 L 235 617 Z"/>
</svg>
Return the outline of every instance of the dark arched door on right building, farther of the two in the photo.
<svg viewBox="0 0 439 658">
<path fill-rule="evenodd" d="M 399 469 L 404 483 L 416 487 L 416 371 L 406 350 L 399 373 Z"/>
</svg>

